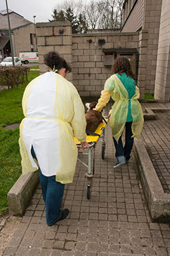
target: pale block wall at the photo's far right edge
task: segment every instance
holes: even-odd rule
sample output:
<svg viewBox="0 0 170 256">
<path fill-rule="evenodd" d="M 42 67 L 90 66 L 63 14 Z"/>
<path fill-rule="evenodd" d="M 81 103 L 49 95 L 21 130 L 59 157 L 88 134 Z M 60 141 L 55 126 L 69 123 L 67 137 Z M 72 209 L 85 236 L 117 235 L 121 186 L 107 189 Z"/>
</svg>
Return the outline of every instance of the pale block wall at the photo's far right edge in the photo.
<svg viewBox="0 0 170 256">
<path fill-rule="evenodd" d="M 163 0 L 160 17 L 154 97 L 170 101 L 170 2 Z"/>
</svg>

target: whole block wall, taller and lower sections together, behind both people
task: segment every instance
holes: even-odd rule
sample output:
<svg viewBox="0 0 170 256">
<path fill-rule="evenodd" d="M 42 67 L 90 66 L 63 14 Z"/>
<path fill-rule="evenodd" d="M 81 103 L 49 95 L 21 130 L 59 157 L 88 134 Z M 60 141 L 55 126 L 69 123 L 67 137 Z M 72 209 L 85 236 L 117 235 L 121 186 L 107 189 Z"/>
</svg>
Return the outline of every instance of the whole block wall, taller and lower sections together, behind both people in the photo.
<svg viewBox="0 0 170 256">
<path fill-rule="evenodd" d="M 116 55 L 113 52 L 105 53 L 104 50 L 131 51 L 141 48 L 137 32 L 72 35 L 69 22 L 37 23 L 37 44 L 40 74 L 48 71 L 43 55 L 49 51 L 58 51 L 73 67 L 73 72 L 68 74 L 67 79 L 73 82 L 80 96 L 100 96 L 105 80 L 112 75 L 111 64 Z M 105 63 L 107 54 L 111 58 L 110 65 Z M 136 70 L 135 78 L 138 86 L 141 83 L 143 87 L 142 77 L 137 78 L 137 72 L 141 74 L 142 71 Z M 141 98 L 143 95 L 142 93 Z"/>
</svg>

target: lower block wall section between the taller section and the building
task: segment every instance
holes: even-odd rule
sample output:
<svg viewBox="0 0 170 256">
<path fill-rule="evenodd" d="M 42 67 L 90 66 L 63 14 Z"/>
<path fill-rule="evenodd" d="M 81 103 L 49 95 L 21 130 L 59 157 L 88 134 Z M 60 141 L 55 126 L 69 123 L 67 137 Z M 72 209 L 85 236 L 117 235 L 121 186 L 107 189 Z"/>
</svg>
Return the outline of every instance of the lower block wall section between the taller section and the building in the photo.
<svg viewBox="0 0 170 256">
<path fill-rule="evenodd" d="M 105 44 L 99 45 L 99 40 Z M 73 84 L 81 96 L 100 96 L 111 66 L 104 66 L 103 48 L 137 48 L 138 33 L 73 34 Z"/>
</svg>

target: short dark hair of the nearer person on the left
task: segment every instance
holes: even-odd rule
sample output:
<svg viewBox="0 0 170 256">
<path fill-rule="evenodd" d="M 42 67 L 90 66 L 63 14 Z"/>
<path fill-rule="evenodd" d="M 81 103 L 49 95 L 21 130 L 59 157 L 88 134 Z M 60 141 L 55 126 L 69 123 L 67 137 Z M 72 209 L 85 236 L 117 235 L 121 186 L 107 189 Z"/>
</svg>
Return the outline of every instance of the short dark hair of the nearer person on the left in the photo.
<svg viewBox="0 0 170 256">
<path fill-rule="evenodd" d="M 51 69 L 61 70 L 61 68 L 65 68 L 66 72 L 71 72 L 71 66 L 56 51 L 44 55 L 44 63 Z"/>
</svg>

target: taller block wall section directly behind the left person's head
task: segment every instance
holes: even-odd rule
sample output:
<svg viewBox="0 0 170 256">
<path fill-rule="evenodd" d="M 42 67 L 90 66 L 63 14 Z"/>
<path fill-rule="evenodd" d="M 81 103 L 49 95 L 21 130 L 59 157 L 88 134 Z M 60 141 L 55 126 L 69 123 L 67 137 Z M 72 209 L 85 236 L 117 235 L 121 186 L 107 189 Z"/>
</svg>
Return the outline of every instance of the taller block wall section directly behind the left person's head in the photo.
<svg viewBox="0 0 170 256">
<path fill-rule="evenodd" d="M 71 23 L 52 22 L 37 23 L 37 46 L 39 54 L 39 73 L 48 71 L 44 65 L 44 54 L 50 51 L 58 51 L 72 66 L 72 32 Z M 73 73 L 67 75 L 69 81 L 73 80 Z"/>
</svg>

